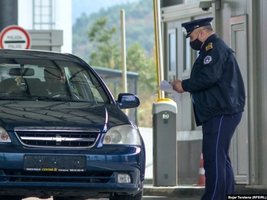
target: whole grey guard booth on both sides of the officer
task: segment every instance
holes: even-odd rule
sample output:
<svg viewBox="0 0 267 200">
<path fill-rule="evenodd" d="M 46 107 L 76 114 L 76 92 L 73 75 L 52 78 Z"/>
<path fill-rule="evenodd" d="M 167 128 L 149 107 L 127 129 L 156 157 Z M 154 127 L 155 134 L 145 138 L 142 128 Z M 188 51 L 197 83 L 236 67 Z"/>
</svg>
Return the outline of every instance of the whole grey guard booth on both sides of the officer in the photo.
<svg viewBox="0 0 267 200">
<path fill-rule="evenodd" d="M 162 0 L 173 3 L 173 1 Z M 182 23 L 194 19 L 214 17 L 212 26 L 216 34 L 236 52 L 237 63 L 245 85 L 246 103 L 240 124 L 232 138 L 229 155 L 234 169 L 235 183 L 267 185 L 266 159 L 266 66 L 264 34 L 254 37 L 255 31 L 266 32 L 266 1 L 220 0 L 220 8 L 210 3 L 210 9 L 200 8 L 204 0 L 187 0 L 182 4 L 162 4 L 161 26 L 163 28 L 163 58 L 166 81 L 188 79 L 198 52 L 190 47 Z M 218 2 L 218 1 L 216 1 Z M 264 8 L 264 9 L 263 9 Z M 259 20 L 254 20 L 254 19 Z M 254 32 L 253 32 L 254 31 Z M 265 45 L 265 46 L 264 46 Z M 258 52 L 258 53 L 257 53 Z M 263 78 L 264 77 L 264 78 Z M 259 81 L 260 80 L 260 81 Z M 264 82 L 265 81 L 265 82 Z M 257 85 L 259 84 L 259 85 Z M 264 92 L 263 92 L 264 91 Z M 167 95 L 166 97 L 172 98 Z M 177 103 L 178 184 L 196 183 L 202 147 L 201 126 L 196 127 L 190 94 L 182 94 Z M 262 113 L 261 113 L 262 111 Z M 182 117 L 183 116 L 183 117 Z M 259 120 L 262 126 L 258 126 Z M 257 127 L 257 129 L 255 129 Z M 183 153 L 186 152 L 186 153 Z"/>
</svg>

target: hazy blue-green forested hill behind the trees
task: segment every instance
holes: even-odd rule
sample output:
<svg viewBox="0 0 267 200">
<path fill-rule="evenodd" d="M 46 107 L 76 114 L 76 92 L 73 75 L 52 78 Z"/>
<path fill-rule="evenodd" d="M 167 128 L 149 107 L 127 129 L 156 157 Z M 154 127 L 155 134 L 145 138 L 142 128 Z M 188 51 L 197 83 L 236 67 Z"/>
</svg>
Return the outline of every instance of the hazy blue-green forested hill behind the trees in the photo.
<svg viewBox="0 0 267 200">
<path fill-rule="evenodd" d="M 97 0 L 95 0 L 97 2 Z M 107 17 L 107 28 L 117 26 L 117 34 L 114 40 L 120 44 L 120 10 L 125 10 L 125 31 L 126 47 L 138 42 L 150 57 L 150 51 L 155 45 L 153 1 L 140 0 L 138 3 L 122 3 L 110 8 L 102 8 L 97 13 L 87 16 L 83 13 L 76 19 L 73 25 L 73 53 L 80 56 L 85 61 L 89 60 L 89 55 L 93 45 L 90 44 L 88 32 L 96 19 Z"/>
</svg>

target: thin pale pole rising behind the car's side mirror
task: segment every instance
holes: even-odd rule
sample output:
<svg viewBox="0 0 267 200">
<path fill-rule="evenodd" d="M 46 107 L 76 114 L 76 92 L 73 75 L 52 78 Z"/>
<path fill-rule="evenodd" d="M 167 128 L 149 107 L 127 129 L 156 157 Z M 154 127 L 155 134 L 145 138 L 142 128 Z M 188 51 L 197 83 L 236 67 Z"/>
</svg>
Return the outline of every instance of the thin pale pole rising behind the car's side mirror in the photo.
<svg viewBox="0 0 267 200">
<path fill-rule="evenodd" d="M 127 69 L 126 69 L 126 42 L 125 42 L 125 14 L 121 9 L 121 48 L 122 48 L 122 71 L 123 71 L 123 93 L 127 93 Z M 128 115 L 128 110 L 125 110 Z"/>
</svg>

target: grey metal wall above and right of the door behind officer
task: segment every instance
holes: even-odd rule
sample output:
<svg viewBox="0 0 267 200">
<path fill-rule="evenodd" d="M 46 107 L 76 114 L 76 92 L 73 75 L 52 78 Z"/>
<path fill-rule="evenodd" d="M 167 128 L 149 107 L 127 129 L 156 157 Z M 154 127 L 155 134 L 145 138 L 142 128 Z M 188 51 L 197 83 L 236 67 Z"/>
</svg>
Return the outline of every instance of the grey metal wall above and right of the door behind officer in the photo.
<svg viewBox="0 0 267 200">
<path fill-rule="evenodd" d="M 230 43 L 230 17 L 247 15 L 249 184 L 267 185 L 267 1 L 221 0 L 218 25 Z M 244 125 L 243 125 L 244 126 Z M 243 128 L 243 127 L 242 127 Z M 234 166 L 238 167 L 238 166 Z"/>
</svg>

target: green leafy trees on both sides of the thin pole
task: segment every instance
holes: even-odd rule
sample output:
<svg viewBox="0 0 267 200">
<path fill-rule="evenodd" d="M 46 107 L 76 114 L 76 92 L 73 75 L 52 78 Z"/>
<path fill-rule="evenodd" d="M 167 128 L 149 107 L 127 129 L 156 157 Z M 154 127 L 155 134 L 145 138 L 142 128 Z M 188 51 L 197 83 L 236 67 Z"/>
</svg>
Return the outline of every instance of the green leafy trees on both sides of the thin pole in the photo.
<svg viewBox="0 0 267 200">
<path fill-rule="evenodd" d="M 121 50 L 116 38 L 117 27 L 106 27 L 108 19 L 96 19 L 88 36 L 93 42 L 95 51 L 90 54 L 90 64 L 93 66 L 121 69 Z M 153 53 L 152 53 L 153 54 Z M 156 92 L 156 68 L 153 57 L 147 58 L 145 50 L 138 42 L 127 50 L 127 70 L 139 73 L 139 89 Z"/>
</svg>

